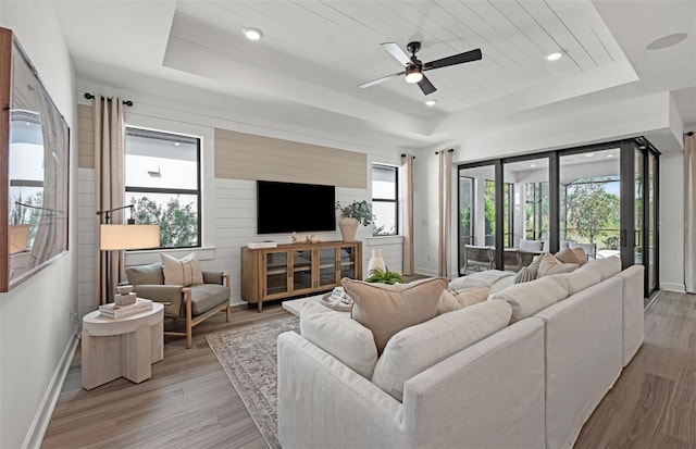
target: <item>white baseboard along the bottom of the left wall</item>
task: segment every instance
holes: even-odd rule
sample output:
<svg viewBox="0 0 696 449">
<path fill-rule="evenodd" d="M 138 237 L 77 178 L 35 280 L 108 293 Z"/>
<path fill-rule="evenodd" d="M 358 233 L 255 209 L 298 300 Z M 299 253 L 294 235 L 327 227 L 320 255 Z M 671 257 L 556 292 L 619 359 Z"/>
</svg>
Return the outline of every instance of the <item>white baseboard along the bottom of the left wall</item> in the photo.
<svg viewBox="0 0 696 449">
<path fill-rule="evenodd" d="M 55 403 L 58 403 L 58 398 L 61 395 L 63 382 L 65 382 L 67 370 L 70 370 L 70 364 L 73 362 L 73 356 L 75 354 L 75 349 L 77 349 L 78 341 L 79 339 L 75 335 L 71 336 L 71 339 L 61 356 L 61 361 L 55 367 L 53 377 L 46 389 L 41 404 L 36 411 L 34 421 L 32 421 L 32 425 L 24 438 L 24 444 L 22 445 L 23 448 L 39 449 L 41 447 L 44 435 L 46 435 L 46 429 L 48 428 L 48 424 L 53 415 Z"/>
</svg>

